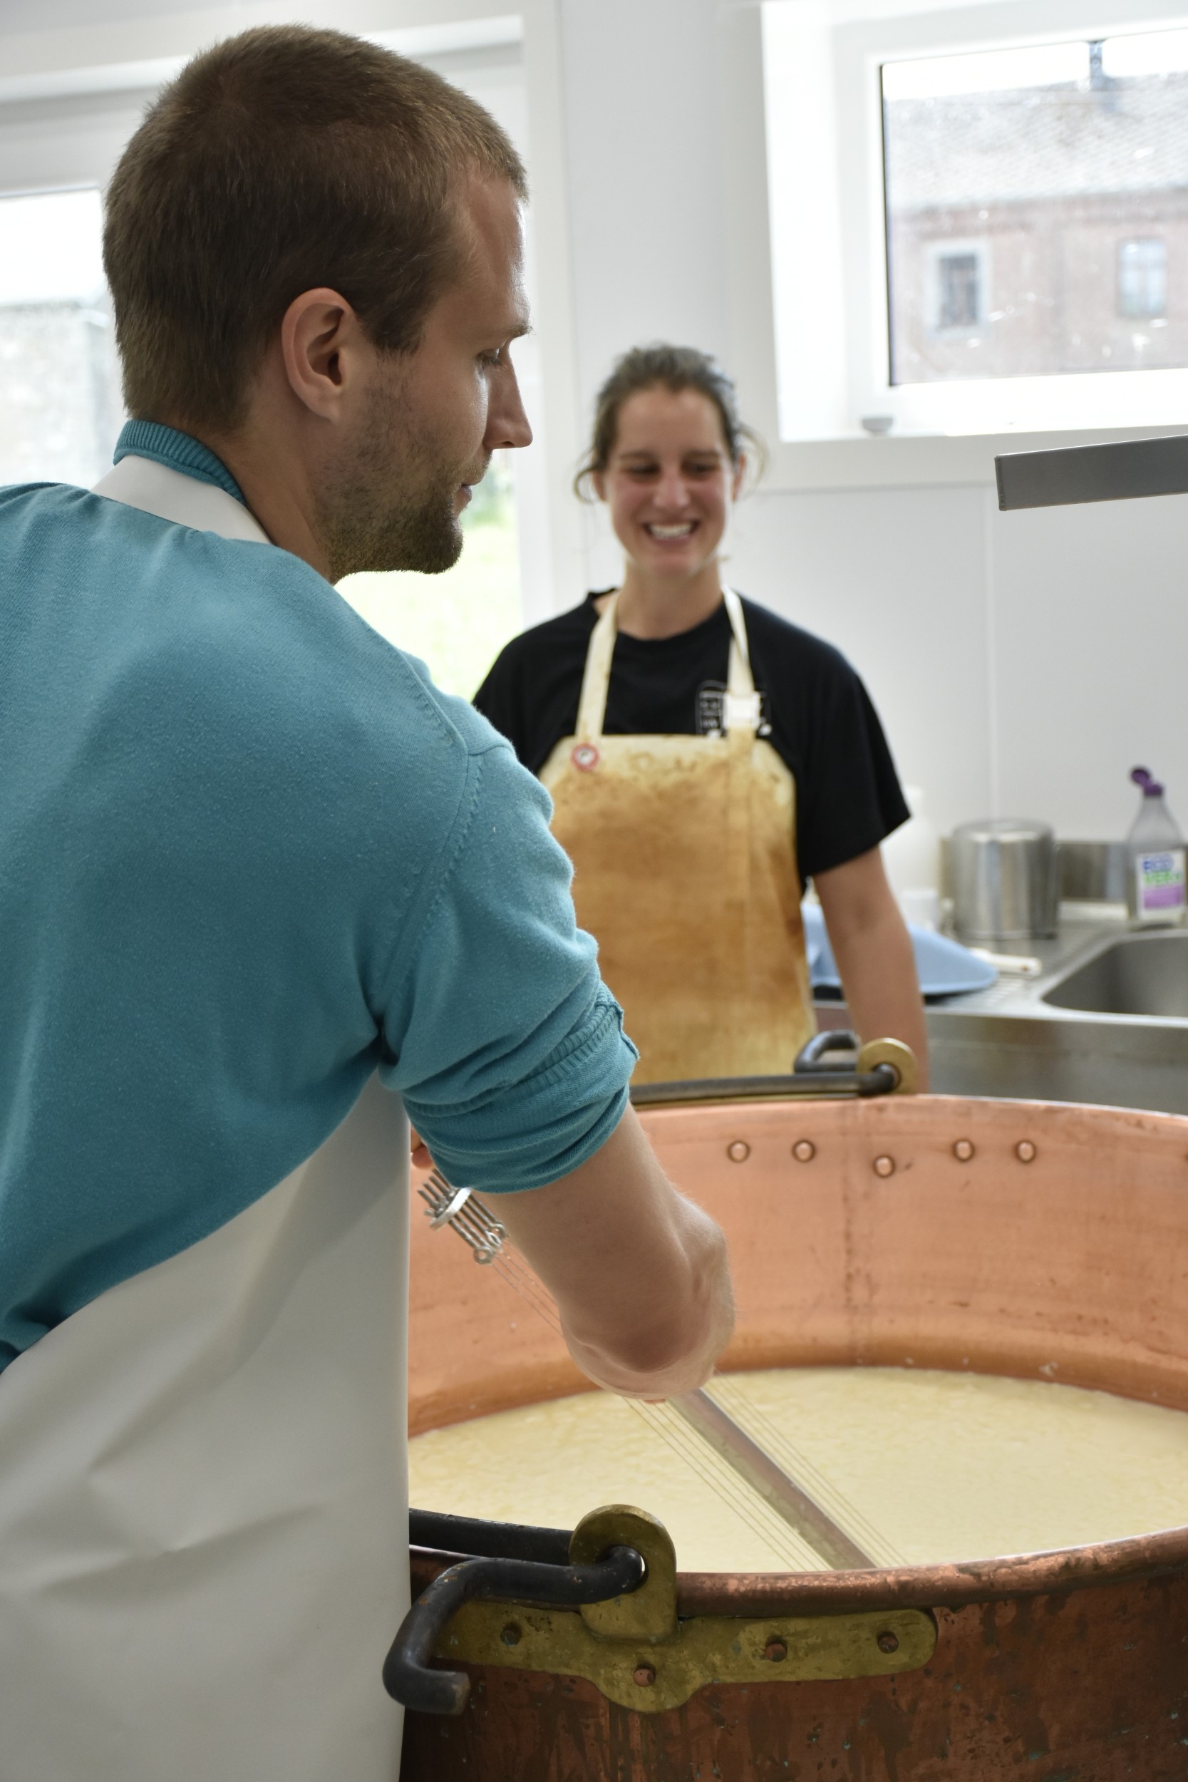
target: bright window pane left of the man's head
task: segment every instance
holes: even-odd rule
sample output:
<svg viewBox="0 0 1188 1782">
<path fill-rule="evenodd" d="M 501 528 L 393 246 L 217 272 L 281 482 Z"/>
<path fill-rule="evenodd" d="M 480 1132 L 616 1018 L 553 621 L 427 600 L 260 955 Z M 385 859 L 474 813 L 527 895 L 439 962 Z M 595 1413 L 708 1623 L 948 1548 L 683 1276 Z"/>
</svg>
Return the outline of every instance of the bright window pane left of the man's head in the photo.
<svg viewBox="0 0 1188 1782">
<path fill-rule="evenodd" d="M 87 486 L 121 422 L 98 191 L 0 198 L 0 483 Z"/>
</svg>

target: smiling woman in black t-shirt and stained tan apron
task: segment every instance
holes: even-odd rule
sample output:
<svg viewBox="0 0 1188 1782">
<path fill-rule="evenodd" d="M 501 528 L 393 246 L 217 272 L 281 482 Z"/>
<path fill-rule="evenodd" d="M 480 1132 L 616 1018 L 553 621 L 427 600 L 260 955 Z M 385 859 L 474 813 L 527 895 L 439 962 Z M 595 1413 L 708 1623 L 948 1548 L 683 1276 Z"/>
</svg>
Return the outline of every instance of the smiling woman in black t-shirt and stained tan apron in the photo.
<svg viewBox="0 0 1188 1782">
<path fill-rule="evenodd" d="M 517 638 L 476 695 L 552 793 L 638 1082 L 791 1069 L 816 1030 L 809 877 L 855 1025 L 924 1057 L 878 854 L 908 814 L 878 716 L 837 650 L 721 581 L 755 456 L 705 353 L 627 353 L 579 476 L 609 510 L 622 584 Z"/>
</svg>

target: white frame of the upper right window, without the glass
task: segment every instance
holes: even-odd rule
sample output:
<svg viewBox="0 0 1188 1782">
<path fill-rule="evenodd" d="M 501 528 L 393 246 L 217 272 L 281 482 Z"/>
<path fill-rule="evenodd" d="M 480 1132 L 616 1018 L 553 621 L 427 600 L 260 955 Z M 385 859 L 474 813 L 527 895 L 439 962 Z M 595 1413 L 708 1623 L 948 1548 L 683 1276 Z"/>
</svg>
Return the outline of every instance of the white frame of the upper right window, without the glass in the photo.
<svg viewBox="0 0 1188 1782">
<path fill-rule="evenodd" d="M 996 451 L 1184 431 L 1188 371 L 889 381 L 883 62 L 1188 25 L 1188 0 L 1090 4 L 1097 11 L 1085 0 L 953 0 L 924 12 L 914 0 L 764 0 L 775 469 L 785 486 L 989 481 Z M 785 226 L 796 210 L 800 253 Z M 814 267 L 812 282 L 796 260 Z M 864 415 L 892 417 L 894 431 L 862 440 Z"/>
</svg>

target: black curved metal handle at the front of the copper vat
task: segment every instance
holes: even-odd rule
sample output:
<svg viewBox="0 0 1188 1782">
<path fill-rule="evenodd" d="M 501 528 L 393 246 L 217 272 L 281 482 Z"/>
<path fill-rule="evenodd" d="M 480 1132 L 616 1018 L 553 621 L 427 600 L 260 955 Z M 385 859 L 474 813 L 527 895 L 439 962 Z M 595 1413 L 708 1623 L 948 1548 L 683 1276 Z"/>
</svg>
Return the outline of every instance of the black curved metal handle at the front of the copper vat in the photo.
<svg viewBox="0 0 1188 1782">
<path fill-rule="evenodd" d="M 591 1565 L 550 1565 L 518 1557 L 460 1559 L 438 1572 L 401 1622 L 383 1661 L 383 1686 L 395 1702 L 415 1713 L 461 1714 L 470 1679 L 463 1672 L 431 1670 L 429 1659 L 445 1623 L 463 1604 L 497 1597 L 581 1607 L 625 1597 L 639 1590 L 645 1577 L 647 1565 L 632 1547 L 611 1547 Z"/>
</svg>

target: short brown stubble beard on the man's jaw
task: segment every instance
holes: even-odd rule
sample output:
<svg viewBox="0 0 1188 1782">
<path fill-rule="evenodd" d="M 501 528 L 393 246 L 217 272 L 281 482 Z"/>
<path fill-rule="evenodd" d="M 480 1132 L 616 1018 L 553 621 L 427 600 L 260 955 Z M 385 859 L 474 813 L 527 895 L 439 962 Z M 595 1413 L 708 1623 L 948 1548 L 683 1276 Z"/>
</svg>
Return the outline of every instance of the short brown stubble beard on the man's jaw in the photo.
<svg viewBox="0 0 1188 1782">
<path fill-rule="evenodd" d="M 330 581 L 394 568 L 440 576 L 461 556 L 461 470 L 403 424 L 399 394 L 399 385 L 376 387 L 354 449 L 322 486 L 317 531 Z"/>
</svg>

